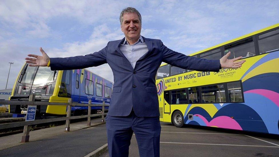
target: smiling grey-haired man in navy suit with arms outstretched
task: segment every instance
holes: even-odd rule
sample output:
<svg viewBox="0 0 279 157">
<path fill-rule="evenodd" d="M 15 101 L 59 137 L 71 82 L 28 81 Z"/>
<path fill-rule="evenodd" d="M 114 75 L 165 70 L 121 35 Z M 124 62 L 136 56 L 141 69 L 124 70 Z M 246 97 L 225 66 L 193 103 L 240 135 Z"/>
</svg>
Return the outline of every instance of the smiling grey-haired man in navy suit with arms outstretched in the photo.
<svg viewBox="0 0 279 157">
<path fill-rule="evenodd" d="M 219 71 L 237 68 L 242 57 L 207 60 L 189 57 L 166 47 L 159 39 L 140 35 L 142 19 L 132 7 L 120 14 L 121 30 L 125 38 L 109 41 L 98 52 L 85 56 L 49 58 L 40 48 L 42 56 L 25 58 L 30 66 L 50 66 L 51 70 L 82 69 L 108 63 L 113 71 L 114 87 L 106 118 L 109 156 L 128 156 L 133 132 L 140 156 L 159 156 L 160 132 L 156 72 L 162 62 L 198 71 Z"/>
</svg>

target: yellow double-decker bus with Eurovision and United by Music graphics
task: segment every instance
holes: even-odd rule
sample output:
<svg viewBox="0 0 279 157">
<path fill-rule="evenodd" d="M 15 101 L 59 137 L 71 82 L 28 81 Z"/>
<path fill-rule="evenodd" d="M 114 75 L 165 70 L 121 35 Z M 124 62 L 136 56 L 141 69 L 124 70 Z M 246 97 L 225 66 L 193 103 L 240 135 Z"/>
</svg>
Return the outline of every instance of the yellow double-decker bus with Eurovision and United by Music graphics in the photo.
<svg viewBox="0 0 279 157">
<path fill-rule="evenodd" d="M 162 64 L 160 121 L 279 134 L 279 23 L 190 56 L 243 56 L 239 68 L 200 72 Z"/>
</svg>

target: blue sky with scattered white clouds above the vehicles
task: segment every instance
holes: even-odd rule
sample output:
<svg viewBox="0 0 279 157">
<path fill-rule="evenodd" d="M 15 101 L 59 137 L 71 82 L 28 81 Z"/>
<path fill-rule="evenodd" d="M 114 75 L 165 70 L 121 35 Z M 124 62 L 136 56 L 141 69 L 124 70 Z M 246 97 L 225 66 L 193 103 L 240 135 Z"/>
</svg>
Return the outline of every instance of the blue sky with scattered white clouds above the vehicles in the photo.
<svg viewBox="0 0 279 157">
<path fill-rule="evenodd" d="M 124 37 L 119 14 L 135 7 L 142 15 L 142 35 L 161 39 L 186 55 L 279 23 L 279 1 L 1 1 L 0 89 L 12 88 L 24 58 L 93 53 Z M 88 68 L 113 82 L 105 64 Z"/>
</svg>

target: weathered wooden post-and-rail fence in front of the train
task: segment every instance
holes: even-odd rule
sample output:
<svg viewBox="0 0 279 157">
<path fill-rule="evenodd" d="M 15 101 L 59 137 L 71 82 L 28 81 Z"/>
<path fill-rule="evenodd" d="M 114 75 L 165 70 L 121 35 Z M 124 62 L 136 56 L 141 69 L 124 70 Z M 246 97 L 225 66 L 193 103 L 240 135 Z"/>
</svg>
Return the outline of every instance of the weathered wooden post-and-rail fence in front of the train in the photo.
<svg viewBox="0 0 279 157">
<path fill-rule="evenodd" d="M 73 103 L 71 99 L 69 99 L 68 103 L 59 103 L 59 102 L 36 102 L 35 95 L 29 96 L 29 101 L 17 101 L 17 100 L 0 100 L 0 104 L 3 105 L 61 105 L 67 106 L 67 116 L 66 117 L 59 117 L 59 118 L 49 118 L 43 120 L 34 120 L 34 121 L 25 121 L 25 122 L 14 122 L 14 123 L 6 123 L 0 124 L 0 129 L 7 129 L 7 128 L 14 128 L 19 126 L 24 126 L 23 128 L 23 136 L 21 138 L 21 142 L 29 142 L 29 131 L 30 126 L 34 124 L 42 124 L 42 123 L 49 123 L 49 122 L 58 122 L 66 120 L 65 131 L 70 131 L 70 120 L 71 119 L 79 119 L 79 118 L 86 118 L 87 117 L 87 126 L 90 126 L 91 117 L 102 116 L 101 122 L 104 122 L 104 115 L 105 113 L 105 106 L 109 106 L 105 104 L 91 104 L 91 100 L 88 101 L 88 104 L 79 104 Z M 72 106 L 88 106 L 88 114 L 82 116 L 71 116 L 71 107 Z M 91 106 L 102 106 L 102 113 L 99 114 L 91 114 Z"/>
</svg>

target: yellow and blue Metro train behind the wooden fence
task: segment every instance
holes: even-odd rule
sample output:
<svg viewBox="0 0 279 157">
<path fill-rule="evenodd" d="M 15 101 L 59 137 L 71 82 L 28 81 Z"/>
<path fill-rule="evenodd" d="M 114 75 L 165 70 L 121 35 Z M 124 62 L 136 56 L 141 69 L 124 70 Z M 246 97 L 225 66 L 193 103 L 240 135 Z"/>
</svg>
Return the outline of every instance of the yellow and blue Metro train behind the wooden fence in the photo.
<svg viewBox="0 0 279 157">
<path fill-rule="evenodd" d="M 10 100 L 28 101 L 31 94 L 35 101 L 88 104 L 109 104 L 113 83 L 86 69 L 51 71 L 50 67 L 31 67 L 24 64 L 13 86 Z M 92 106 L 91 113 L 97 113 L 100 106 Z M 107 107 L 106 107 L 107 109 Z M 9 112 L 26 114 L 27 105 L 10 105 Z M 37 106 L 40 116 L 65 116 L 66 106 Z M 74 115 L 85 114 L 86 106 L 73 106 Z M 37 114 L 36 114 L 37 115 Z"/>
</svg>

